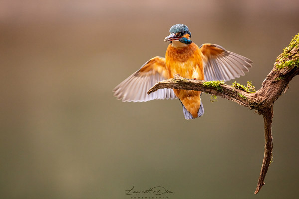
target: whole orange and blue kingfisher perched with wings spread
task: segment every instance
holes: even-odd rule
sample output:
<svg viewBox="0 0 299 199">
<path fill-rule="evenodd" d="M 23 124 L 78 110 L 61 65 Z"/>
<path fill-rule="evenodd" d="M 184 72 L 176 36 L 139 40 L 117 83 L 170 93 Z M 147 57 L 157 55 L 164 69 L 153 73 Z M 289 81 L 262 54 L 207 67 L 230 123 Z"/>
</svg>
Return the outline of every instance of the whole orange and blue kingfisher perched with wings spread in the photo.
<svg viewBox="0 0 299 199">
<path fill-rule="evenodd" d="M 225 50 L 217 44 L 197 46 L 191 40 L 186 25 L 176 24 L 169 30 L 164 41 L 170 44 L 164 57 L 154 57 L 122 81 L 114 89 L 114 96 L 123 102 L 145 102 L 155 99 L 178 98 L 183 106 L 185 119 L 204 114 L 201 92 L 182 89 L 159 89 L 147 94 L 158 81 L 173 78 L 175 74 L 188 79 L 228 81 L 248 72 L 253 63 L 250 59 Z"/>
</svg>

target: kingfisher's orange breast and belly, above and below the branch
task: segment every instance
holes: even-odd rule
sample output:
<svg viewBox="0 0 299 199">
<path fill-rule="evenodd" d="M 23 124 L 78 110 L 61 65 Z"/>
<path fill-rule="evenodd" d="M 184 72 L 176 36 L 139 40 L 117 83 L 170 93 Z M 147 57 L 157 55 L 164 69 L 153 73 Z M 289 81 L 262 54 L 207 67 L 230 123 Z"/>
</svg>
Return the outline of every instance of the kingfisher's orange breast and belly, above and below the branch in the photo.
<svg viewBox="0 0 299 199">
<path fill-rule="evenodd" d="M 174 74 L 179 74 L 185 78 L 204 80 L 203 62 L 200 50 L 195 43 L 191 43 L 185 48 L 175 48 L 169 44 L 165 58 L 169 78 L 173 78 Z M 201 92 L 180 89 L 173 90 L 185 108 L 196 118 L 200 108 Z"/>
</svg>

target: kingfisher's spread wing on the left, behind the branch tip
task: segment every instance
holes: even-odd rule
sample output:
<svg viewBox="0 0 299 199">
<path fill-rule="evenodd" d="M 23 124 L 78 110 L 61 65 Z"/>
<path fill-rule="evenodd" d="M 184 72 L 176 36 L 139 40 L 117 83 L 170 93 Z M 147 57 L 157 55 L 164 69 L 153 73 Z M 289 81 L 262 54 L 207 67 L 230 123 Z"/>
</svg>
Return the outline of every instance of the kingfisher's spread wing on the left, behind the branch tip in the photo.
<svg viewBox="0 0 299 199">
<path fill-rule="evenodd" d="M 123 102 L 145 102 L 155 99 L 176 98 L 172 89 L 159 89 L 147 94 L 147 91 L 158 81 L 167 79 L 164 57 L 154 57 L 142 67 L 117 85 L 113 92 Z"/>
</svg>

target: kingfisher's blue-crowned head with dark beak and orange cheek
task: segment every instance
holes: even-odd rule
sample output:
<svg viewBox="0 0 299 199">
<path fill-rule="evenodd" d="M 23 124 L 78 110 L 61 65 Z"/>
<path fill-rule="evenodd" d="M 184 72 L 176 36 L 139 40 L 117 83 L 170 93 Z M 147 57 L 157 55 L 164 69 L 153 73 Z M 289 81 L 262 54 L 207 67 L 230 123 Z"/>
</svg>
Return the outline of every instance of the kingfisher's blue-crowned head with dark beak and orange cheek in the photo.
<svg viewBox="0 0 299 199">
<path fill-rule="evenodd" d="M 186 25 L 176 24 L 169 30 L 170 35 L 164 39 L 165 42 L 172 43 L 173 41 L 181 42 L 183 44 L 191 44 L 191 32 Z"/>
</svg>

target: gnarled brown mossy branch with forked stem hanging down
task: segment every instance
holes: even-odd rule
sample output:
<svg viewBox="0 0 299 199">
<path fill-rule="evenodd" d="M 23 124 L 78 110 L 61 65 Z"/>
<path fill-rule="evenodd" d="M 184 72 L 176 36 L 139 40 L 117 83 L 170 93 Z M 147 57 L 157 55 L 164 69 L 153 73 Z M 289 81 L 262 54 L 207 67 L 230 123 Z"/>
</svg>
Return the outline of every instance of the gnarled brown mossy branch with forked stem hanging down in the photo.
<svg viewBox="0 0 299 199">
<path fill-rule="evenodd" d="M 257 194 L 265 184 L 266 173 L 272 161 L 272 133 L 271 124 L 273 118 L 273 104 L 278 97 L 286 92 L 288 84 L 293 77 L 299 74 L 299 34 L 297 34 L 289 46 L 281 53 L 274 63 L 274 67 L 267 75 L 260 88 L 255 93 L 248 93 L 241 87 L 229 86 L 223 81 L 191 80 L 175 75 L 174 78 L 157 82 L 149 89 L 148 94 L 158 89 L 185 89 L 196 90 L 217 95 L 234 101 L 250 109 L 256 109 L 264 118 L 265 151 L 263 164 L 255 191 Z"/>
</svg>

